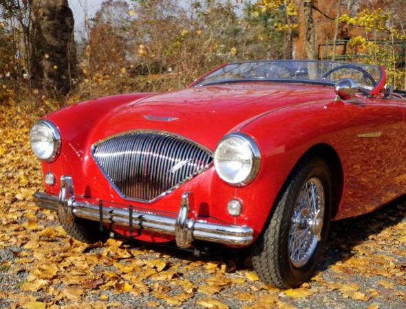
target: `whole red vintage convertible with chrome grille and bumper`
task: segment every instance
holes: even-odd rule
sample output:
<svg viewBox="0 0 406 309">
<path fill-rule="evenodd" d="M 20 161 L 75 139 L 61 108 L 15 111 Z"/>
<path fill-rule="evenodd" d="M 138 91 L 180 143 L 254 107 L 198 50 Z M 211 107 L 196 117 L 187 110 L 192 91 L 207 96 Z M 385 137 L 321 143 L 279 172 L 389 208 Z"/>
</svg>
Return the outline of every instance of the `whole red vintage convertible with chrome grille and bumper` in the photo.
<svg viewBox="0 0 406 309">
<path fill-rule="evenodd" d="M 264 282 L 299 286 L 330 221 L 405 193 L 403 95 L 383 67 L 264 60 L 67 106 L 30 132 L 36 201 L 83 242 L 249 247 Z"/>
</svg>

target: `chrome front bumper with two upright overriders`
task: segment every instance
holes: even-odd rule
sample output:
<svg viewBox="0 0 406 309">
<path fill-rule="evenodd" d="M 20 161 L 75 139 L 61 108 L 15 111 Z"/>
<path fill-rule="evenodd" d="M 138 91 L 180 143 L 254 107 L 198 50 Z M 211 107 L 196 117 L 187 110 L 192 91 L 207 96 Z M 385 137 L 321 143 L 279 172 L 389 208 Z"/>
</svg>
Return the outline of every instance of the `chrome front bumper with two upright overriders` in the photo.
<svg viewBox="0 0 406 309">
<path fill-rule="evenodd" d="M 108 202 L 101 200 L 77 201 L 75 200 L 72 177 L 68 175 L 61 177 L 59 196 L 43 192 L 34 194 L 39 207 L 58 211 L 59 220 L 67 224 L 74 222 L 74 218 L 83 218 L 100 222 L 100 229 L 103 229 L 104 225 L 127 227 L 130 236 L 133 229 L 162 233 L 175 236 L 176 244 L 180 248 L 190 247 L 193 240 L 237 246 L 245 246 L 253 242 L 253 229 L 251 227 L 220 225 L 188 218 L 190 195 L 191 192 L 182 194 L 178 217 L 172 218 L 151 212 L 137 211 L 131 205 L 127 205 L 127 208 L 118 208 L 108 206 Z"/>
</svg>

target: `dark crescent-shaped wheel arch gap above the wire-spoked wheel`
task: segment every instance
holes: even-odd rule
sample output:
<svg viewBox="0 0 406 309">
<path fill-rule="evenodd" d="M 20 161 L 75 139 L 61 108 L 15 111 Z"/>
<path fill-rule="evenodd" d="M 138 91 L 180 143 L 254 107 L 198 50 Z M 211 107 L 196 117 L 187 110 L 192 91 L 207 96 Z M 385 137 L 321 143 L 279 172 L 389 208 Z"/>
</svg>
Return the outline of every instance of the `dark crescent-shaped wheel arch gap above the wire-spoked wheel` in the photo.
<svg viewBox="0 0 406 309">
<path fill-rule="evenodd" d="M 339 211 L 339 206 L 343 198 L 344 190 L 344 173 L 343 165 L 337 152 L 328 144 L 317 144 L 312 146 L 308 151 L 306 151 L 301 159 L 308 156 L 318 156 L 321 157 L 327 163 L 328 168 L 331 173 L 331 183 L 332 183 L 332 209 L 331 215 L 334 218 Z"/>
</svg>

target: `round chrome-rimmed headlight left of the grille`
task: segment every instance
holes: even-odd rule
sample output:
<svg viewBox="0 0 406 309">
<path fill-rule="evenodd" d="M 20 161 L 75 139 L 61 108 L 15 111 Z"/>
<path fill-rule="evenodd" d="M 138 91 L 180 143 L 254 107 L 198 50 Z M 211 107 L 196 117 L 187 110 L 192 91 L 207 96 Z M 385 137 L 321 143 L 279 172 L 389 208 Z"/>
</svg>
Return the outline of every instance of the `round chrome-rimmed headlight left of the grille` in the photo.
<svg viewBox="0 0 406 309">
<path fill-rule="evenodd" d="M 41 119 L 31 128 L 30 143 L 36 157 L 50 162 L 61 148 L 61 135 L 52 122 Z"/>
</svg>

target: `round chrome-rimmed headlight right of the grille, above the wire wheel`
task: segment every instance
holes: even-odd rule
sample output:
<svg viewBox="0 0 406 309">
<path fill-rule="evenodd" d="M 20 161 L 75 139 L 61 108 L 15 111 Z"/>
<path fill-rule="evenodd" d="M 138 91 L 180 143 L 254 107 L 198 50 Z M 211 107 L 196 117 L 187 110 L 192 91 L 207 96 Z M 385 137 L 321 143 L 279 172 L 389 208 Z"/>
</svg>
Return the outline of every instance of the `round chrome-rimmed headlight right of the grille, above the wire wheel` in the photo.
<svg viewBox="0 0 406 309">
<path fill-rule="evenodd" d="M 231 185 L 246 185 L 258 174 L 261 156 L 255 141 L 244 133 L 223 137 L 214 152 L 214 166 L 221 179 Z"/>
</svg>

